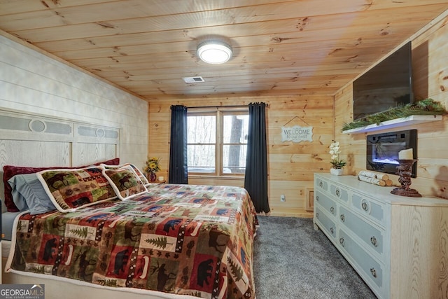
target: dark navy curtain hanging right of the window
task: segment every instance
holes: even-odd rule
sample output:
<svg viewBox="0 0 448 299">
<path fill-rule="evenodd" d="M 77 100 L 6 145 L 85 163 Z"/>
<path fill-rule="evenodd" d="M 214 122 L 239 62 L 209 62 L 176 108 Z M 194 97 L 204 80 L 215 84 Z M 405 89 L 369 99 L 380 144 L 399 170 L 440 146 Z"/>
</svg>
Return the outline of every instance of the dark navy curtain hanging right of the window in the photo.
<svg viewBox="0 0 448 299">
<path fill-rule="evenodd" d="M 269 212 L 267 198 L 266 104 L 251 103 L 247 139 L 244 188 L 251 195 L 255 210 Z"/>
</svg>

